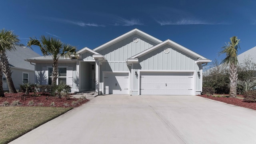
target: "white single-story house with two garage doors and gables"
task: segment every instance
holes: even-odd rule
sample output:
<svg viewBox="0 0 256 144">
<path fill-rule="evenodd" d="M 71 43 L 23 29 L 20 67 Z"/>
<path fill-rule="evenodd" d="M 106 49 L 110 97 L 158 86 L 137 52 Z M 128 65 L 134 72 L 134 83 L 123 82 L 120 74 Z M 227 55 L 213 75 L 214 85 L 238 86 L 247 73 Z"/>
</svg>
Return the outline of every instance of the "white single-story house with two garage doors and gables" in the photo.
<svg viewBox="0 0 256 144">
<path fill-rule="evenodd" d="M 161 41 L 138 29 L 93 50 L 78 51 L 78 59 L 60 58 L 57 83 L 72 92 L 99 94 L 195 95 L 202 92 L 202 67 L 211 60 L 171 41 Z M 26 59 L 36 63 L 38 84 L 50 84 L 52 57 Z"/>
</svg>

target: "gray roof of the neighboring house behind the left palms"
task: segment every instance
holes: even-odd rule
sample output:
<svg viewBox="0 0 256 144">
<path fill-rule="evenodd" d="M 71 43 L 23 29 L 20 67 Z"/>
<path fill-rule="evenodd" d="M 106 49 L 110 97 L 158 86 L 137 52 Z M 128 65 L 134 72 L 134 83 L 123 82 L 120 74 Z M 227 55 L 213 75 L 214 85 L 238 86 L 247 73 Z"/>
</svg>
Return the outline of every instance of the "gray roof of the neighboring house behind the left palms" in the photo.
<svg viewBox="0 0 256 144">
<path fill-rule="evenodd" d="M 35 70 L 34 65 L 25 61 L 27 58 L 33 58 L 40 56 L 40 54 L 34 52 L 32 49 L 21 46 L 14 46 L 16 50 L 6 51 L 6 56 L 10 66 L 16 68 L 24 68 L 28 70 Z"/>
</svg>

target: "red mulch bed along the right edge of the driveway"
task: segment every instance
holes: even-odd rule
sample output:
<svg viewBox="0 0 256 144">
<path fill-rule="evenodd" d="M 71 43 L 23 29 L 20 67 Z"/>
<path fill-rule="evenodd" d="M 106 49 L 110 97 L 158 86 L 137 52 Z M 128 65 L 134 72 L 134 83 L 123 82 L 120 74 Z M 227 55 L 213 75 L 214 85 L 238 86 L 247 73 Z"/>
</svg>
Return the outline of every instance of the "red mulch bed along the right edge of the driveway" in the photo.
<svg viewBox="0 0 256 144">
<path fill-rule="evenodd" d="M 217 100 L 220 102 L 225 102 L 227 104 L 233 104 L 235 106 L 240 106 L 240 107 L 244 107 L 244 108 L 250 108 L 252 110 L 256 110 L 256 103 L 252 102 L 243 102 L 243 100 L 238 99 L 238 98 L 226 98 L 226 97 L 213 97 L 213 96 L 207 96 L 207 95 L 198 95 L 204 98 L 209 98 L 212 100 Z M 238 97 L 242 97 L 241 95 L 238 95 Z"/>
</svg>

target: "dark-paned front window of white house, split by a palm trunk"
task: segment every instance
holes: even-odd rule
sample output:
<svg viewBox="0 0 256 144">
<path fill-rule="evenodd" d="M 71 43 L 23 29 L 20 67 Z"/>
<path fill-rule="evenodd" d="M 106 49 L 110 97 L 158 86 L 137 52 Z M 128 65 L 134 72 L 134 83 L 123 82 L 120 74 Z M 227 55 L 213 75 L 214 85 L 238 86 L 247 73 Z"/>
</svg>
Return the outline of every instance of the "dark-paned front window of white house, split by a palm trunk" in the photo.
<svg viewBox="0 0 256 144">
<path fill-rule="evenodd" d="M 48 68 L 48 84 L 52 84 L 52 70 Z M 58 68 L 58 79 L 57 84 L 66 84 L 67 82 L 67 68 Z"/>
</svg>

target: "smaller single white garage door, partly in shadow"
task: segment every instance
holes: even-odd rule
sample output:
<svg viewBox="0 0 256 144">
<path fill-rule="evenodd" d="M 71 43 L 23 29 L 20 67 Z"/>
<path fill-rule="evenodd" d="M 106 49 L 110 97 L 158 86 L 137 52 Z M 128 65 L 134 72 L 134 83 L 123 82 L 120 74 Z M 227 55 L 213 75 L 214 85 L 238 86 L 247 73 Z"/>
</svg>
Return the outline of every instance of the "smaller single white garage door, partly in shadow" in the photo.
<svg viewBox="0 0 256 144">
<path fill-rule="evenodd" d="M 105 72 L 104 94 L 129 94 L 129 74 Z"/>
</svg>

